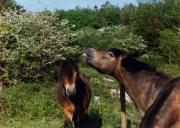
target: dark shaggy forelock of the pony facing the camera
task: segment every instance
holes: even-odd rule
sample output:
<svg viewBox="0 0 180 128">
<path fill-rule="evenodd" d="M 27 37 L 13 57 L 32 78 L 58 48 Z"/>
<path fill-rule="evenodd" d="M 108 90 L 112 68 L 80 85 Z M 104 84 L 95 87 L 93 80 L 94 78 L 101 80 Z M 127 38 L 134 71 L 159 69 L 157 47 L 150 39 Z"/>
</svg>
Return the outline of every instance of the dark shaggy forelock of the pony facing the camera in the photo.
<svg viewBox="0 0 180 128">
<path fill-rule="evenodd" d="M 72 60 L 62 61 L 59 70 L 59 79 L 63 79 L 64 77 L 71 78 L 73 71 L 79 73 L 79 68 L 76 63 L 74 63 Z"/>
</svg>

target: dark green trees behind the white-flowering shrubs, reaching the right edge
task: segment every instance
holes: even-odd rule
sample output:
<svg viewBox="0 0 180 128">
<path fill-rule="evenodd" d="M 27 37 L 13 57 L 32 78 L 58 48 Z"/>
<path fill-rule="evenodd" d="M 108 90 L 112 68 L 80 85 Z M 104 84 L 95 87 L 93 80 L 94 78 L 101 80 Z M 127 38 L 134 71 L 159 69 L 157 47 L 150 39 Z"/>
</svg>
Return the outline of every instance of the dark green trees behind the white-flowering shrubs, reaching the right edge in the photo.
<svg viewBox="0 0 180 128">
<path fill-rule="evenodd" d="M 143 37 L 148 46 L 147 52 L 160 55 L 165 63 L 178 64 L 179 12 L 179 0 L 140 0 L 138 6 L 129 4 L 118 8 L 107 1 L 99 9 L 95 6 L 94 9 L 58 10 L 56 15 L 57 20 L 68 19 L 75 25 L 75 30 L 125 25 L 131 32 Z M 116 47 L 121 48 L 121 45 Z"/>
</svg>

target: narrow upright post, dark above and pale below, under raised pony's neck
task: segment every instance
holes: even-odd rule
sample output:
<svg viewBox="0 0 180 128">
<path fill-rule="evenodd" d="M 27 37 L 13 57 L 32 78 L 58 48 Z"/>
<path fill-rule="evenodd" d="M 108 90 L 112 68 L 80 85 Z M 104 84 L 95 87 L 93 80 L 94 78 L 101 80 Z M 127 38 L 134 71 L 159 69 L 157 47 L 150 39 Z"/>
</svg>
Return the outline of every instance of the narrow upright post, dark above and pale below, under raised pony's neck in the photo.
<svg viewBox="0 0 180 128">
<path fill-rule="evenodd" d="M 120 85 L 121 127 L 126 128 L 126 100 L 124 88 Z"/>
</svg>

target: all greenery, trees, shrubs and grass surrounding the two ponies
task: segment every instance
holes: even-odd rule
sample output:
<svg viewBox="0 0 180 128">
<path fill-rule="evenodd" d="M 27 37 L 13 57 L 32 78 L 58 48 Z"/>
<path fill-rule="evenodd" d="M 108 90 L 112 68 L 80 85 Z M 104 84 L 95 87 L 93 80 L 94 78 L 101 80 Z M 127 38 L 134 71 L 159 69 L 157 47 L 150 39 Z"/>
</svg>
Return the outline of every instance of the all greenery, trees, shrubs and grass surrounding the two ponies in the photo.
<svg viewBox="0 0 180 128">
<path fill-rule="evenodd" d="M 140 0 L 138 6 L 123 8 L 107 1 L 101 8 L 38 13 L 6 0 L 0 12 L 0 88 L 9 86 L 0 92 L 0 127 L 62 125 L 54 83 L 61 61 L 67 58 L 80 62 L 81 70 L 93 79 L 93 95 L 102 97 L 99 106 L 92 99 L 92 119 L 102 119 L 105 128 L 120 127 L 119 104 L 114 102 L 118 96 L 108 93 L 118 89 L 117 83 L 104 81 L 104 76 L 81 62 L 84 47 L 119 48 L 160 71 L 180 75 L 179 0 Z M 110 103 L 115 107 L 112 113 Z M 139 118 L 134 119 L 138 114 L 132 104 L 128 114 L 131 127 L 136 128 Z"/>
</svg>

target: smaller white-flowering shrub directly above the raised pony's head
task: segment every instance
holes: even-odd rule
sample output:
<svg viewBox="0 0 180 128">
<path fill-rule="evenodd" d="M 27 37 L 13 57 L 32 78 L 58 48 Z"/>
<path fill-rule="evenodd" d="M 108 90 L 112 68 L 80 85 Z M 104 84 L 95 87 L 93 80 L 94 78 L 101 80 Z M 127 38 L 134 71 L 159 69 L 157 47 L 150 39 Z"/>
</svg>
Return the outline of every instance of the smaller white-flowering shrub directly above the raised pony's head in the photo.
<svg viewBox="0 0 180 128">
<path fill-rule="evenodd" d="M 78 35 L 81 47 L 119 48 L 132 53 L 141 53 L 146 49 L 142 37 L 134 35 L 124 26 L 104 27 L 98 30 L 85 29 L 80 31 Z"/>
</svg>

